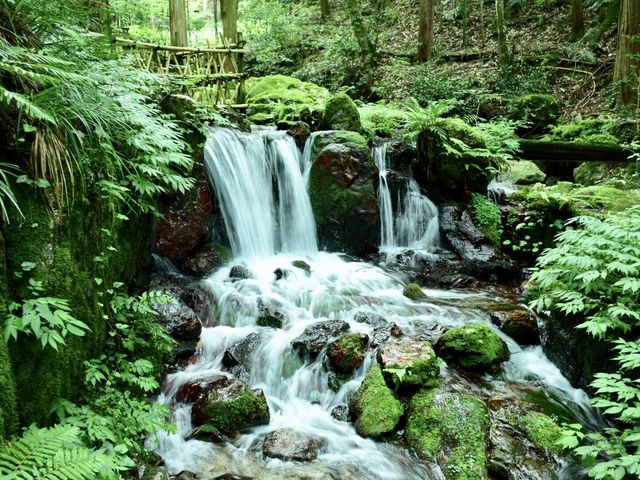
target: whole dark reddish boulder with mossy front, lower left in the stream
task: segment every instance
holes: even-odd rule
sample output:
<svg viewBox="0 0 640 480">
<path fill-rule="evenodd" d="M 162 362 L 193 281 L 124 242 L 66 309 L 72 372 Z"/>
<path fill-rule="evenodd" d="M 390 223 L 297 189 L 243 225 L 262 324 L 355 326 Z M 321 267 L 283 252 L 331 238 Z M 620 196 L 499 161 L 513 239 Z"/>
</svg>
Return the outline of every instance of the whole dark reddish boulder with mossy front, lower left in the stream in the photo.
<svg viewBox="0 0 640 480">
<path fill-rule="evenodd" d="M 266 425 L 269 418 L 269 406 L 262 390 L 250 390 L 243 382 L 226 377 L 201 384 L 191 409 L 195 426 L 207 425 L 208 429 L 226 435 Z"/>
</svg>

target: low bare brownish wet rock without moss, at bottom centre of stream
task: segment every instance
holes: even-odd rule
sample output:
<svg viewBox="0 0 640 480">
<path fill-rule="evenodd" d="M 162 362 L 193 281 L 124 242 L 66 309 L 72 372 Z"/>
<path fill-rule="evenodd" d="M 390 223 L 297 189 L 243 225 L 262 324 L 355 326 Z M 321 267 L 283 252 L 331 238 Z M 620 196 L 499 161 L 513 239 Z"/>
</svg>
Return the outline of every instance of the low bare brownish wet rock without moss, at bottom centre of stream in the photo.
<svg viewBox="0 0 640 480">
<path fill-rule="evenodd" d="M 322 438 L 281 428 L 269 432 L 262 445 L 262 453 L 271 458 L 310 462 L 318 458 L 318 451 L 325 441 Z"/>
</svg>

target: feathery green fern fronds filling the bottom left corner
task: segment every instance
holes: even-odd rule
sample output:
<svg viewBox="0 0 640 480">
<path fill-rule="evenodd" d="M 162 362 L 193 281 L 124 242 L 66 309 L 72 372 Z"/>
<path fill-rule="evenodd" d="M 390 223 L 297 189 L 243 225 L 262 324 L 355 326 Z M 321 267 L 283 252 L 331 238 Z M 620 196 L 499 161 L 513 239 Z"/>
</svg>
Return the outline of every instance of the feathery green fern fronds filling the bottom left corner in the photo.
<svg viewBox="0 0 640 480">
<path fill-rule="evenodd" d="M 14 480 L 115 478 L 117 467 L 103 450 L 87 448 L 71 425 L 29 427 L 0 445 L 0 476 Z"/>
</svg>

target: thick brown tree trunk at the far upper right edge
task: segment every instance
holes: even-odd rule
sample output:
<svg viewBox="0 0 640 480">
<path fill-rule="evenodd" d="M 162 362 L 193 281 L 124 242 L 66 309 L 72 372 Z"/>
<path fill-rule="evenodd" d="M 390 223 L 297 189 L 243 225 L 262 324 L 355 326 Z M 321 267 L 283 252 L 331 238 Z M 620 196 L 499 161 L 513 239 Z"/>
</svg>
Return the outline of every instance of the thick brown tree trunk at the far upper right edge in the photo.
<svg viewBox="0 0 640 480">
<path fill-rule="evenodd" d="M 613 81 L 619 82 L 618 106 L 636 105 L 640 88 L 640 1 L 622 0 L 618 52 Z"/>
</svg>

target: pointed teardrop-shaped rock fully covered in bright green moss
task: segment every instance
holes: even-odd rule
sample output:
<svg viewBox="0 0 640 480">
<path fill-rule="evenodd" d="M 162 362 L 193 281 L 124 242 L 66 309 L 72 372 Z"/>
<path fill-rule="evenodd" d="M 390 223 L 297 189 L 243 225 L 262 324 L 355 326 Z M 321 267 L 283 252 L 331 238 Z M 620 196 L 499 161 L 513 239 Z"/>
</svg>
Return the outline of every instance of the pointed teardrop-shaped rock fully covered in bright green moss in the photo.
<svg viewBox="0 0 640 480">
<path fill-rule="evenodd" d="M 380 437 L 395 430 L 404 414 L 404 405 L 387 386 L 379 365 L 371 367 L 360 388 L 349 401 L 358 434 Z"/>
</svg>

